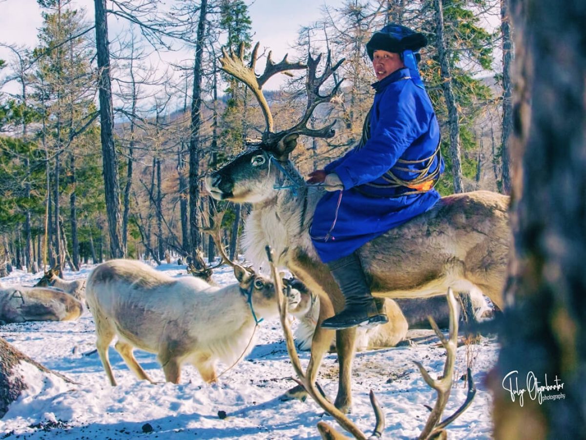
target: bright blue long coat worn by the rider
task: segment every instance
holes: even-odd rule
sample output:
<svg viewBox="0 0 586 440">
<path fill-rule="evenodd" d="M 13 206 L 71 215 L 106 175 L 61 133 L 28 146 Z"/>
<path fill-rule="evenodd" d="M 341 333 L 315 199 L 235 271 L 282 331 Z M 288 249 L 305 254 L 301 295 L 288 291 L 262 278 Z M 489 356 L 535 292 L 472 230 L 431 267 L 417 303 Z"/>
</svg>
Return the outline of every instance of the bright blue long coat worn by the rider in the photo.
<svg viewBox="0 0 586 440">
<path fill-rule="evenodd" d="M 323 195 L 309 231 L 324 263 L 350 255 L 440 199 L 435 189 L 403 195 L 410 189 L 391 187 L 385 178 L 389 170 L 401 180 L 419 177 L 417 171 L 425 164 L 417 161 L 430 157 L 427 175 L 444 170 L 441 155 L 434 157 L 440 127 L 427 92 L 410 80 L 408 69 L 391 73 L 373 87 L 370 137 L 325 167 L 338 174 L 344 189 Z"/>
</svg>

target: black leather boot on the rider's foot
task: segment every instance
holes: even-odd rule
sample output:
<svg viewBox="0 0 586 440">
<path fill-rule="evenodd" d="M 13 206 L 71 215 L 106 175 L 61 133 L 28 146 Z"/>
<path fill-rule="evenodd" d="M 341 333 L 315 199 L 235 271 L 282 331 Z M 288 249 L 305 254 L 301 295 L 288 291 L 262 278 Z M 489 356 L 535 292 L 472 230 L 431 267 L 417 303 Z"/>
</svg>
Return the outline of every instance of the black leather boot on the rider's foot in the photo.
<svg viewBox="0 0 586 440">
<path fill-rule="evenodd" d="M 355 253 L 329 262 L 328 267 L 346 298 L 346 304 L 342 312 L 322 322 L 323 328 L 342 330 L 355 326 L 373 327 L 389 322 L 384 313 L 384 303 L 379 312 L 373 296 L 370 295 L 362 265 Z"/>
</svg>

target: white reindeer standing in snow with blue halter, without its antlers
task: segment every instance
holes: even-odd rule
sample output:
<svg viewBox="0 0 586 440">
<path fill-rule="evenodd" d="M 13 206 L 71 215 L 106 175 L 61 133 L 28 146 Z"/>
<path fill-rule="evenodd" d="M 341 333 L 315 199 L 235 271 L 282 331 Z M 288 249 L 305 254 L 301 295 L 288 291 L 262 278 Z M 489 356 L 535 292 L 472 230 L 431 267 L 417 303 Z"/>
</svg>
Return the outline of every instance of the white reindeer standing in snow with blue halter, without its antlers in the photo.
<svg viewBox="0 0 586 440">
<path fill-rule="evenodd" d="M 257 322 L 278 316 L 273 283 L 234 265 L 238 283 L 223 288 L 192 276 L 173 278 L 135 260 L 110 260 L 88 276 L 87 302 L 96 322 L 96 347 L 108 361 L 115 349 L 139 379 L 153 382 L 132 355 L 134 347 L 156 353 L 166 381 L 179 383 L 180 367 L 193 364 L 207 383 L 216 363 L 231 365 L 254 347 Z"/>
</svg>

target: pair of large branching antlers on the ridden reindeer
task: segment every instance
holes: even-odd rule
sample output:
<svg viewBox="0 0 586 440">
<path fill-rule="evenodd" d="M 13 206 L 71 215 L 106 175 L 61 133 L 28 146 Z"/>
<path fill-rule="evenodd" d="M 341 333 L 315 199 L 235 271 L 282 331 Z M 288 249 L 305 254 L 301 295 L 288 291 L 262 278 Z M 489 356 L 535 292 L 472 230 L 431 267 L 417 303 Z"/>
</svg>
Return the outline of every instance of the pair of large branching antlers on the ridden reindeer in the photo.
<svg viewBox="0 0 586 440">
<path fill-rule="evenodd" d="M 250 88 L 250 90 L 252 90 L 254 93 L 254 96 L 256 97 L 258 103 L 260 104 L 261 110 L 263 111 L 265 123 L 267 126 L 263 133 L 263 142 L 267 145 L 275 145 L 282 138 L 288 136 L 289 134 L 304 134 L 305 136 L 310 137 L 332 137 L 334 134 L 332 127 L 335 124 L 335 121 L 328 126 L 317 129 L 308 128 L 307 123 L 309 118 L 311 118 L 315 107 L 321 103 L 331 101 L 333 97 L 336 96 L 336 93 L 338 93 L 338 89 L 343 80 L 334 80 L 334 87 L 332 91 L 326 95 L 320 94 L 319 88 L 336 71 L 336 69 L 342 65 L 344 59 L 341 59 L 338 63 L 336 63 L 335 66 L 332 66 L 331 53 L 328 52 L 328 58 L 326 60 L 326 65 L 323 69 L 322 75 L 318 76 L 317 69 L 322 58 L 321 55 L 318 55 L 314 58 L 311 56 L 311 53 L 309 53 L 307 65 L 304 65 L 303 63 L 299 62 L 289 62 L 287 60 L 287 55 L 285 55 L 280 63 L 274 63 L 271 59 L 271 52 L 269 52 L 264 73 L 263 75 L 258 76 L 254 72 L 258 56 L 258 46 L 259 43 L 254 46 L 248 66 L 246 66 L 244 63 L 244 45 L 242 43 L 240 44 L 238 53 L 234 53 L 232 49 L 230 49 L 230 52 L 228 53 L 226 49 L 222 48 L 220 64 L 222 65 L 221 68 L 224 70 L 224 72 L 229 73 L 229 75 L 246 84 L 248 88 Z M 305 109 L 305 114 L 299 123 L 295 124 L 295 126 L 287 128 L 286 130 L 282 130 L 279 133 L 275 133 L 271 109 L 268 106 L 267 100 L 263 94 L 263 85 L 272 75 L 275 75 L 275 73 L 285 72 L 292 69 L 308 70 L 305 84 L 307 92 L 307 106 Z"/>
</svg>

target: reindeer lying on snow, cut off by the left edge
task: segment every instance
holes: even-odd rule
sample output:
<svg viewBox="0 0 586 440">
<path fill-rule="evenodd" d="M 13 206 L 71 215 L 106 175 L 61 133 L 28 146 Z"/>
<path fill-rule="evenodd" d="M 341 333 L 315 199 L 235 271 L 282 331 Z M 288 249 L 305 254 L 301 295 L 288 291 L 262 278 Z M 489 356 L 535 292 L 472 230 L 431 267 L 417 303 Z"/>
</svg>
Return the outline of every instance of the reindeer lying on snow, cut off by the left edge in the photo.
<svg viewBox="0 0 586 440">
<path fill-rule="evenodd" d="M 45 287 L 5 286 L 0 283 L 0 322 L 71 321 L 83 306 L 73 296 Z"/>
</svg>

